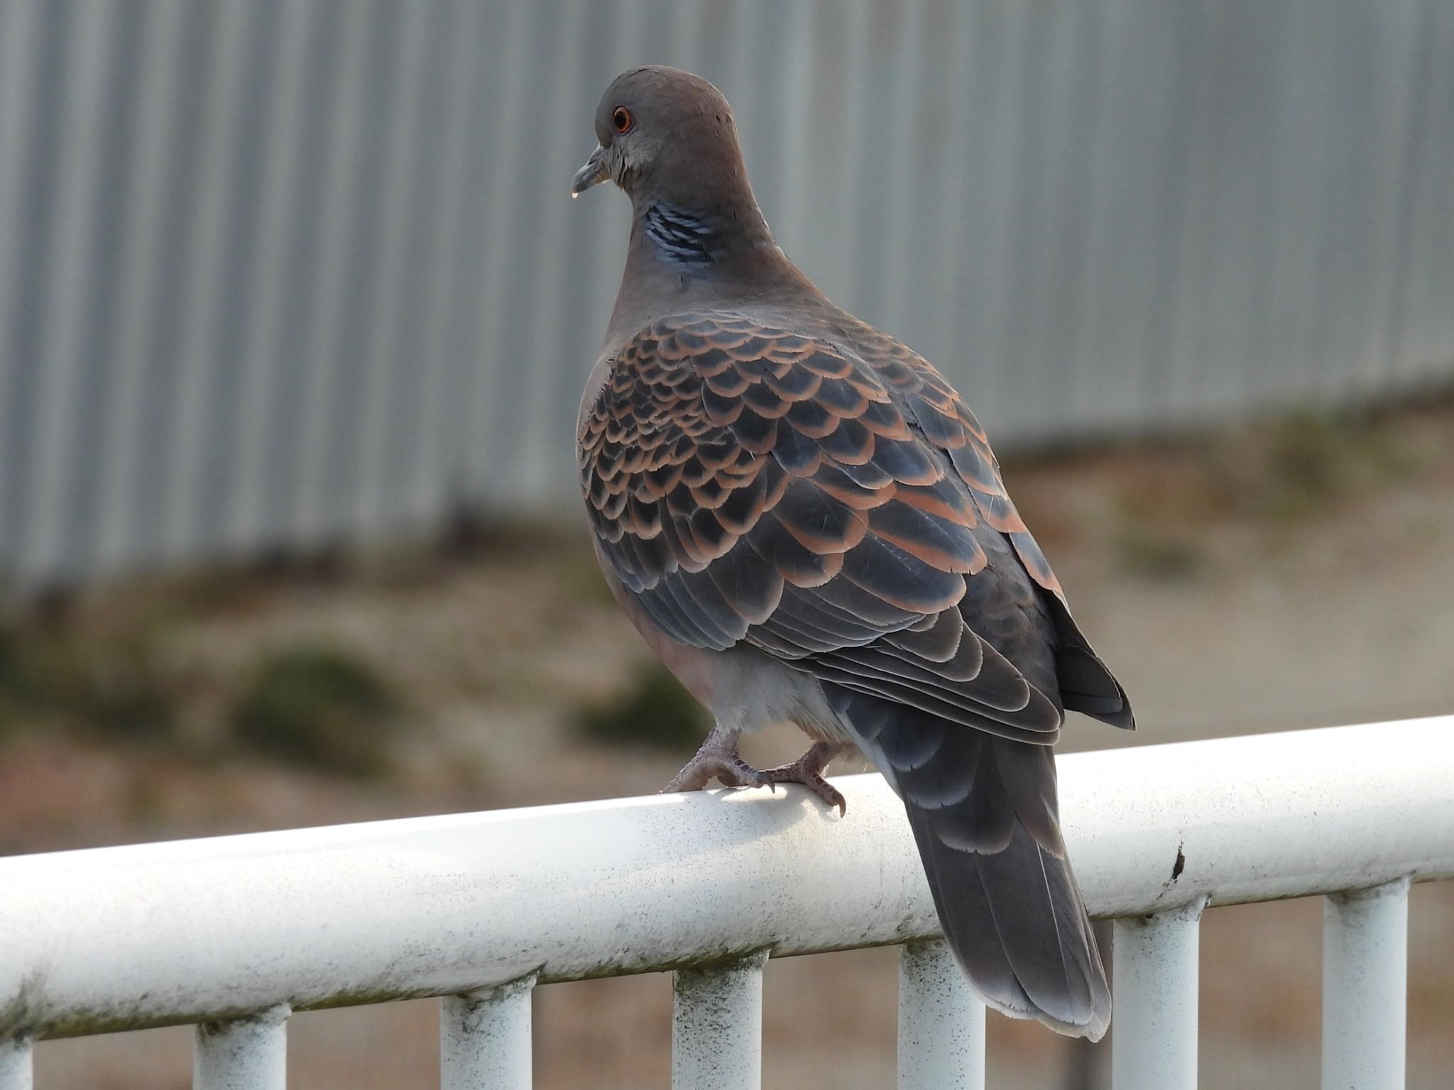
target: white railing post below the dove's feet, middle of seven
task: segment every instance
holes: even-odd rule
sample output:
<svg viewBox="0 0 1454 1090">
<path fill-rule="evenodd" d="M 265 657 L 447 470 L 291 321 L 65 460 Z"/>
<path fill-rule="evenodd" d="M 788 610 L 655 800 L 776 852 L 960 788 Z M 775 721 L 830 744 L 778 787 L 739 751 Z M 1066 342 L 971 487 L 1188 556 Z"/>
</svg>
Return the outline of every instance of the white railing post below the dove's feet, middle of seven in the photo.
<svg viewBox="0 0 1454 1090">
<path fill-rule="evenodd" d="M 760 1090 L 762 950 L 672 978 L 672 1090 Z"/>
</svg>

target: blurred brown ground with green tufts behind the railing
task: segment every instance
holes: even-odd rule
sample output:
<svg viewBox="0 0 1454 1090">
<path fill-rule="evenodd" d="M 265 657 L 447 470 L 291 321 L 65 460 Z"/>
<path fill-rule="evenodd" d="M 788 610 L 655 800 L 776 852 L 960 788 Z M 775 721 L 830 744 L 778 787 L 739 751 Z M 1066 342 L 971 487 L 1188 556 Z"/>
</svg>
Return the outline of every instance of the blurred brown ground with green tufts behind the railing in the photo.
<svg viewBox="0 0 1454 1090">
<path fill-rule="evenodd" d="M 1006 478 L 1136 702 L 1064 750 L 1454 711 L 1454 401 L 1018 461 Z M 689 756 L 583 737 L 646 651 L 582 533 L 141 580 L 0 629 L 0 852 L 654 791 Z M 618 716 L 619 718 L 619 716 Z M 595 737 L 609 731 L 593 728 Z M 307 737 L 302 750 L 289 748 Z M 361 741 L 362 740 L 362 741 Z M 648 741 L 651 741 L 648 738 Z M 356 744 L 355 744 L 356 743 Z M 790 730 L 749 760 L 790 759 Z M 1454 1070 L 1454 884 L 1415 891 L 1409 1086 Z M 1202 1086 L 1316 1086 L 1316 901 L 1202 927 Z M 893 1081 L 893 950 L 769 965 L 765 1086 Z M 541 988 L 537 1086 L 669 1075 L 662 977 Z M 427 1086 L 432 1001 L 302 1014 L 308 1087 Z M 1064 1045 L 992 1017 L 999 1084 L 1061 1087 Z M 39 1049 L 36 1086 L 183 1087 L 188 1030 Z"/>
</svg>

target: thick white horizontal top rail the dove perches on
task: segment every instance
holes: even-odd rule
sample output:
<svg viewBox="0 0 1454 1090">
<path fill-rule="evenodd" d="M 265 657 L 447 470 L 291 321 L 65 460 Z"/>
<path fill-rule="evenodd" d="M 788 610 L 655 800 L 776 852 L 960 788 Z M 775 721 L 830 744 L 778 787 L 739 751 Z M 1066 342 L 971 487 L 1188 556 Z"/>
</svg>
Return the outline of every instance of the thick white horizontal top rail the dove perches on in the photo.
<svg viewBox="0 0 1454 1090">
<path fill-rule="evenodd" d="M 1454 876 L 1454 716 L 1061 760 L 1098 916 Z M 936 936 L 899 802 L 836 780 L 0 860 L 0 1038 Z"/>
</svg>

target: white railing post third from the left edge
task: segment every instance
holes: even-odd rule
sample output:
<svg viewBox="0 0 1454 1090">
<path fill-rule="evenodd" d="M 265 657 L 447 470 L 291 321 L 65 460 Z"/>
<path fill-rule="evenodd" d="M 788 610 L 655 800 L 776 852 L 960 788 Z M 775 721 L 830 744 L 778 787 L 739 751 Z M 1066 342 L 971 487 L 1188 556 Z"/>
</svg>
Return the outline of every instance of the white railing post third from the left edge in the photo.
<svg viewBox="0 0 1454 1090">
<path fill-rule="evenodd" d="M 446 996 L 439 1012 L 441 1090 L 529 1090 L 535 975 Z"/>
</svg>

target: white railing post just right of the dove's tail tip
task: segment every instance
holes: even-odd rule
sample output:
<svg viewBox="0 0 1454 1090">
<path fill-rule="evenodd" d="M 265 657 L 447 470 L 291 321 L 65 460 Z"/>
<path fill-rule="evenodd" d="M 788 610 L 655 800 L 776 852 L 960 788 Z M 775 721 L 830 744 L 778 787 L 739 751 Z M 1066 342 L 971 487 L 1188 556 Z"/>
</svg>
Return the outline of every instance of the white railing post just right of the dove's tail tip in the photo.
<svg viewBox="0 0 1454 1090">
<path fill-rule="evenodd" d="M 1197 953 L 1205 901 L 1115 921 L 1115 1090 L 1195 1090 Z"/>
</svg>

